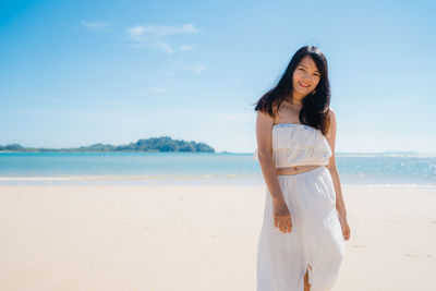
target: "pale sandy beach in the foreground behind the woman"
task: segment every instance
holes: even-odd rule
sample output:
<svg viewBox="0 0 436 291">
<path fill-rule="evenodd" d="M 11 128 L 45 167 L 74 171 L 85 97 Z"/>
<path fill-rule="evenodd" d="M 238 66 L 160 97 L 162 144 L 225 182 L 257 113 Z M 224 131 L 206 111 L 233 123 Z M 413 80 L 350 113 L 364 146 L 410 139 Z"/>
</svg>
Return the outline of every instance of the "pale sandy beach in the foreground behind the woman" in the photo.
<svg viewBox="0 0 436 291">
<path fill-rule="evenodd" d="M 342 185 L 334 290 L 436 290 L 436 191 Z M 263 185 L 0 186 L 0 290 L 250 290 Z"/>
</svg>

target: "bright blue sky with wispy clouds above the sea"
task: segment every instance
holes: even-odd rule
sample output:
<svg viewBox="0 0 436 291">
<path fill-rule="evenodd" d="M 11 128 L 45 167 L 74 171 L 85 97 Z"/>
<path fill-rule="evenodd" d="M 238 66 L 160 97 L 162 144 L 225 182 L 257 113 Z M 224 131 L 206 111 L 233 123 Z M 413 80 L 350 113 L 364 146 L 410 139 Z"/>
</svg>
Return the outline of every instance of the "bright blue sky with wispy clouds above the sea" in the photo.
<svg viewBox="0 0 436 291">
<path fill-rule="evenodd" d="M 432 1 L 1 1 L 0 145 L 256 147 L 252 104 L 327 57 L 336 151 L 436 151 Z"/>
</svg>

